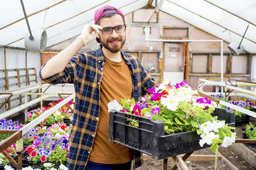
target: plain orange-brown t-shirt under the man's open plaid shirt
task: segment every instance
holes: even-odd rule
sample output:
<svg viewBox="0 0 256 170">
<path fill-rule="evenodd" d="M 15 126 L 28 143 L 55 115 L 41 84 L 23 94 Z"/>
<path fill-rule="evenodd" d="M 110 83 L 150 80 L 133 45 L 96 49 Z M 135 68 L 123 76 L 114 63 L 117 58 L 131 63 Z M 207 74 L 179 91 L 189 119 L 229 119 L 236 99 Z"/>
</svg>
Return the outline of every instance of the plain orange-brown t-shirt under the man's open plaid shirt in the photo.
<svg viewBox="0 0 256 170">
<path fill-rule="evenodd" d="M 100 86 L 100 120 L 89 160 L 98 164 L 123 164 L 132 160 L 132 149 L 108 142 L 110 113 L 107 104 L 114 99 L 120 103 L 121 98 L 132 98 L 132 77 L 123 58 L 121 62 L 107 57 L 105 60 Z"/>
</svg>

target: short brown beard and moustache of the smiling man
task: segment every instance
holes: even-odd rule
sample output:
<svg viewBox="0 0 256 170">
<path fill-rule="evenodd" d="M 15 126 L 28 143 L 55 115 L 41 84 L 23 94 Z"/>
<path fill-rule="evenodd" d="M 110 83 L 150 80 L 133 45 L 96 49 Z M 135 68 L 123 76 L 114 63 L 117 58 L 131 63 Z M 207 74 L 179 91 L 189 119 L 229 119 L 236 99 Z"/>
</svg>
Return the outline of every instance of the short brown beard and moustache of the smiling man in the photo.
<svg viewBox="0 0 256 170">
<path fill-rule="evenodd" d="M 110 52 L 117 53 L 117 52 L 121 51 L 122 47 L 124 46 L 125 39 L 126 39 L 125 37 L 124 37 L 124 40 L 122 38 L 110 38 L 106 42 L 104 42 L 102 40 L 102 38 L 100 38 L 100 42 L 101 42 L 102 46 L 105 47 Z M 110 46 L 108 43 L 108 42 L 117 41 L 117 40 L 119 40 L 121 42 L 121 44 Z"/>
</svg>

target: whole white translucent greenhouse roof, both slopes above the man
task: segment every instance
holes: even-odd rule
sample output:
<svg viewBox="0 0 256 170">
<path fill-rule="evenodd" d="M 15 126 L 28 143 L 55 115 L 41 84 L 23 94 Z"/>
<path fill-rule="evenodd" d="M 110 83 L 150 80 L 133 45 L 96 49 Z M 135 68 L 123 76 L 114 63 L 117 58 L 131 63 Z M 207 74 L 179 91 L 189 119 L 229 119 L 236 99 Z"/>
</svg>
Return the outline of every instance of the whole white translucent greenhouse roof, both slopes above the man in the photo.
<svg viewBox="0 0 256 170">
<path fill-rule="evenodd" d="M 21 2 L 0 2 L 0 47 L 24 48 L 28 27 Z M 245 51 L 256 53 L 255 0 L 23 0 L 23 4 L 31 30 L 46 30 L 47 47 L 79 35 L 85 23 L 93 23 L 94 12 L 100 6 L 115 6 L 125 15 L 157 4 L 159 10 L 225 42 L 242 40 Z"/>
</svg>

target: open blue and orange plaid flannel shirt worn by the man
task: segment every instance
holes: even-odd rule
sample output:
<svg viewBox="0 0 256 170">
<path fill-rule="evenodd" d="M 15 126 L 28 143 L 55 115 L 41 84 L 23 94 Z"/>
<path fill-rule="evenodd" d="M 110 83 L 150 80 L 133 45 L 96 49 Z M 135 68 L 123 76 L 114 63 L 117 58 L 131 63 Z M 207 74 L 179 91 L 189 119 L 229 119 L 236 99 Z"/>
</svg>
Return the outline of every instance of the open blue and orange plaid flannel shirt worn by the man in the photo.
<svg viewBox="0 0 256 170">
<path fill-rule="evenodd" d="M 125 52 L 121 54 L 132 75 L 132 95 L 135 101 L 138 101 L 156 83 L 137 57 Z M 85 169 L 89 160 L 100 112 L 100 84 L 104 64 L 105 57 L 99 46 L 97 50 L 79 52 L 63 72 L 42 79 L 50 84 L 71 83 L 75 86 L 75 109 L 68 154 L 69 169 Z M 41 77 L 41 70 L 39 75 Z M 134 168 L 142 164 L 142 154 L 134 151 Z"/>
</svg>

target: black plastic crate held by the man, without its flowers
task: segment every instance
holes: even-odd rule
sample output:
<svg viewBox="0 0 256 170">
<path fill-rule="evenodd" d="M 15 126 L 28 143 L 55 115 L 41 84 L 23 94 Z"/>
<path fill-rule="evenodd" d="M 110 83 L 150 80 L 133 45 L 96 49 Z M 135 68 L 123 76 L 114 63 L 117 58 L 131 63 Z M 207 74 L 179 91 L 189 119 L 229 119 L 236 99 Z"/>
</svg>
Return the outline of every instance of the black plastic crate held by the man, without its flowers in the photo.
<svg viewBox="0 0 256 170">
<path fill-rule="evenodd" d="M 225 120 L 231 126 L 235 126 L 235 113 L 225 109 L 215 108 L 213 115 L 219 120 Z M 129 125 L 127 120 L 136 120 L 139 128 Z M 174 157 L 178 154 L 193 152 L 198 149 L 210 147 L 199 145 L 200 135 L 196 130 L 181 132 L 175 135 L 164 135 L 164 122 L 152 121 L 137 115 L 110 112 L 109 141 L 136 149 L 144 154 L 151 155 L 154 159 Z"/>
</svg>

